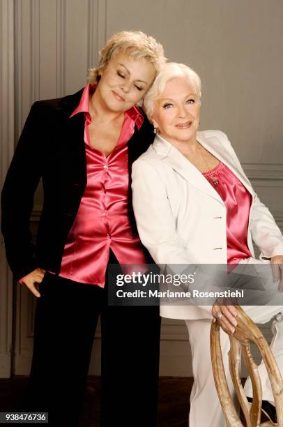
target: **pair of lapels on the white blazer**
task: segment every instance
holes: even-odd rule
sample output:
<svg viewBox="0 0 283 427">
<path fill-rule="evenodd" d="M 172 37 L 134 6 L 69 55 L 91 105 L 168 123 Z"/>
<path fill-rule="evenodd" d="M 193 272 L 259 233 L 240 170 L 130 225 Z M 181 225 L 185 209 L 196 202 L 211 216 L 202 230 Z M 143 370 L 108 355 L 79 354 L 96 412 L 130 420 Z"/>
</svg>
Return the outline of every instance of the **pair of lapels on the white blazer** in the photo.
<svg viewBox="0 0 283 427">
<path fill-rule="evenodd" d="M 222 142 L 217 137 L 205 137 L 204 132 L 197 133 L 197 140 L 201 145 L 203 145 L 208 151 L 210 151 L 216 158 L 222 161 L 224 165 L 227 165 L 229 169 L 234 172 L 236 177 L 240 179 L 243 185 L 247 190 L 252 193 L 252 188 L 249 181 L 246 177 L 238 170 L 234 156 L 227 149 L 225 149 Z M 160 135 L 155 136 L 153 142 L 153 149 L 158 153 L 162 160 L 170 165 L 178 174 L 180 174 L 184 179 L 189 181 L 194 187 L 197 187 L 203 193 L 206 193 L 210 197 L 213 197 L 215 200 L 224 205 L 222 198 L 217 193 L 215 188 L 207 181 L 207 179 L 199 172 L 197 167 L 194 167 L 190 160 L 185 158 L 176 147 L 174 147 L 170 142 L 160 137 Z"/>
</svg>

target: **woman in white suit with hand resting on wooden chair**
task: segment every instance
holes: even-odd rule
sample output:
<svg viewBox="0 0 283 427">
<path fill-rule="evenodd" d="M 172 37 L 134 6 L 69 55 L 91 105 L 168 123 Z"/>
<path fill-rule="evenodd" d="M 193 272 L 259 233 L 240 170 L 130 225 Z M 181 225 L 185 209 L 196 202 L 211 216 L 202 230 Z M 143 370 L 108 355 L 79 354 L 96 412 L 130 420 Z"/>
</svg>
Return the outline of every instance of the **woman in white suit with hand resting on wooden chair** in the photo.
<svg viewBox="0 0 283 427">
<path fill-rule="evenodd" d="M 158 264 L 185 271 L 190 265 L 229 264 L 236 272 L 257 269 L 269 261 L 274 280 L 283 287 L 283 237 L 273 216 L 259 201 L 224 133 L 199 132 L 201 81 L 197 73 L 180 63 L 167 63 L 144 98 L 148 119 L 155 126 L 155 140 L 132 165 L 133 205 L 142 243 Z M 261 250 L 254 256 L 252 240 Z M 231 264 L 234 264 L 231 267 Z M 238 269 L 238 270 L 237 270 Z M 270 275 L 271 275 L 271 269 Z M 268 271 L 269 271 L 268 270 Z M 194 280 L 202 287 L 199 269 Z M 234 276 L 232 276 L 234 277 Z M 255 276 L 255 288 L 264 287 Z M 211 283 L 212 277 L 208 278 Z M 217 285 L 217 283 L 216 283 Z M 275 304 L 282 301 L 271 277 L 268 285 Z M 266 285 L 267 286 L 267 285 Z M 269 291 L 268 291 L 269 292 Z M 283 304 L 245 306 L 255 322 L 275 317 L 273 353 L 283 370 Z M 205 304 L 205 303 L 204 303 Z M 231 304 L 231 303 L 230 303 Z M 162 305 L 163 317 L 184 319 L 192 348 L 194 386 L 190 397 L 190 427 L 222 427 L 224 416 L 213 380 L 209 334 L 213 317 L 227 334 L 233 334 L 233 305 Z M 222 334 L 224 364 L 228 369 L 229 338 Z M 259 367 L 263 406 L 274 416 L 273 393 L 263 365 Z M 230 380 L 231 383 L 231 380 Z M 250 381 L 245 385 L 252 396 Z"/>
</svg>

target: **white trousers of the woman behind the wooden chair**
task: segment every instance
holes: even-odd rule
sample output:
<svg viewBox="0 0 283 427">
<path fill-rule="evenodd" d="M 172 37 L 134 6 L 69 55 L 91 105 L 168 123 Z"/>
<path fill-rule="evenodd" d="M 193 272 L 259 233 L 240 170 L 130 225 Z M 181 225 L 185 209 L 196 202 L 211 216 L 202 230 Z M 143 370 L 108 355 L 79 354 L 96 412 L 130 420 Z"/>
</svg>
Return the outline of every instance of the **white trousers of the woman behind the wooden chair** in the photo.
<svg viewBox="0 0 283 427">
<path fill-rule="evenodd" d="M 247 263 L 259 263 L 259 260 L 249 258 L 245 260 Z M 278 301 L 279 302 L 279 301 Z M 280 301 L 280 304 L 282 302 Z M 273 340 L 270 347 L 283 375 L 283 304 L 280 306 L 244 306 L 243 309 L 256 323 L 266 323 L 273 318 Z M 213 370 L 211 366 L 211 350 L 210 350 L 210 332 L 211 320 L 185 320 L 188 328 L 190 345 L 192 349 L 192 372 L 194 375 L 194 384 L 190 396 L 190 427 L 224 427 L 224 415 L 220 401 L 217 396 L 215 382 L 213 379 Z M 229 375 L 229 336 L 220 331 L 220 340 L 222 347 L 222 357 L 224 368 L 227 375 L 227 382 L 231 390 L 231 395 L 235 397 L 234 386 Z M 274 400 L 268 373 L 264 364 L 259 366 L 259 374 L 261 376 L 261 384 L 263 389 L 264 400 Z M 252 396 L 252 384 L 250 379 L 247 379 L 245 384 L 246 396 Z"/>
</svg>

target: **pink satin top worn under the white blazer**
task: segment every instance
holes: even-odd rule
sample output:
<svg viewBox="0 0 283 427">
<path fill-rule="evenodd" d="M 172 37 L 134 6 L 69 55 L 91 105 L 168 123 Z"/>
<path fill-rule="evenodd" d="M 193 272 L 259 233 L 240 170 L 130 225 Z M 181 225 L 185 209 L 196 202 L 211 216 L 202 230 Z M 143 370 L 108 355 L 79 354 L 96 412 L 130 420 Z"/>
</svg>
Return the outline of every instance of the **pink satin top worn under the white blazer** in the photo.
<svg viewBox="0 0 283 427">
<path fill-rule="evenodd" d="M 227 209 L 227 262 L 238 264 L 240 260 L 252 257 L 247 247 L 252 195 L 222 162 L 203 175 L 220 195 Z M 218 180 L 216 186 L 211 179 L 212 176 Z"/>
</svg>

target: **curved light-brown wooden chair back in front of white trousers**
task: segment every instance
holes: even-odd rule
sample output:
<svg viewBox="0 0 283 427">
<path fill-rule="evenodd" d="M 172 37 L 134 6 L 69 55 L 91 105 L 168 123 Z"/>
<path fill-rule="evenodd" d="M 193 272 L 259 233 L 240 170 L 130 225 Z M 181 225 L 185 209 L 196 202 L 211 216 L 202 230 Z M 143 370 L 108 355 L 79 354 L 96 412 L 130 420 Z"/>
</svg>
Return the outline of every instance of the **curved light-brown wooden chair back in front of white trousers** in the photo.
<svg viewBox="0 0 283 427">
<path fill-rule="evenodd" d="M 229 351 L 229 369 L 231 379 L 234 384 L 236 396 L 240 403 L 246 421 L 246 427 L 283 427 L 283 381 L 280 370 L 276 364 L 273 353 L 270 350 L 266 339 L 261 334 L 257 325 L 245 313 L 243 308 L 236 306 L 238 311 L 236 331 L 230 338 Z M 268 377 L 273 390 L 275 407 L 277 412 L 277 424 L 272 421 L 261 421 L 261 380 L 257 364 L 254 363 L 250 352 L 250 342 L 257 345 L 263 362 L 266 364 Z M 240 381 L 240 362 L 241 354 L 245 361 L 245 366 L 252 380 L 253 400 L 252 404 L 245 397 L 243 386 Z M 227 427 L 244 427 L 236 411 L 236 407 L 231 398 L 227 378 L 225 375 L 220 345 L 220 325 L 218 322 L 212 322 L 211 325 L 211 360 L 213 366 L 213 375 L 217 394 L 220 399 Z"/>
</svg>

